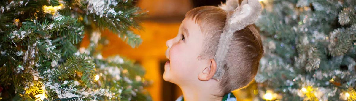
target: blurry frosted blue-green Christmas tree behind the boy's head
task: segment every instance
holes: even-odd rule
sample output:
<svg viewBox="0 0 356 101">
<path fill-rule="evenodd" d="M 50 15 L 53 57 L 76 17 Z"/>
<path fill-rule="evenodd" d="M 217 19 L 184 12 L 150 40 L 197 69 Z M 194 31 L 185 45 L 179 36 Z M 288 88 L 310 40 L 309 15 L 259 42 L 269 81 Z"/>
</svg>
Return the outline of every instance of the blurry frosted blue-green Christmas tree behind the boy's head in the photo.
<svg viewBox="0 0 356 101">
<path fill-rule="evenodd" d="M 263 0 L 259 100 L 356 100 L 356 1 Z"/>
</svg>

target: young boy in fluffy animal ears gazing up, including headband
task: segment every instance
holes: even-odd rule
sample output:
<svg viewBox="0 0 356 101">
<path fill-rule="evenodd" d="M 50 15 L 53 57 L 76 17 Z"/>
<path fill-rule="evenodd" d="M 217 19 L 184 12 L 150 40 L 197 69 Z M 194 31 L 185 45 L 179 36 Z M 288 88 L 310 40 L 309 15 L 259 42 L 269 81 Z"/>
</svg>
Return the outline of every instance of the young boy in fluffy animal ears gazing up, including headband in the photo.
<svg viewBox="0 0 356 101">
<path fill-rule="evenodd" d="M 257 0 L 236 6 L 237 0 L 227 0 L 190 10 L 166 42 L 163 79 L 183 91 L 179 101 L 236 101 L 231 91 L 255 77 L 263 47 L 253 22 L 262 7 Z"/>
</svg>

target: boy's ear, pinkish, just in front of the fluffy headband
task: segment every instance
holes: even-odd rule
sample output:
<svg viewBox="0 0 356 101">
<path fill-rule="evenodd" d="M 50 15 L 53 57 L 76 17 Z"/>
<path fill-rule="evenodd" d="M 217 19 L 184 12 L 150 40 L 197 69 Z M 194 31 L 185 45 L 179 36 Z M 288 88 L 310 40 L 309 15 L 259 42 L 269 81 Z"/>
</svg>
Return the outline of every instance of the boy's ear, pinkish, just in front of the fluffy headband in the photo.
<svg viewBox="0 0 356 101">
<path fill-rule="evenodd" d="M 214 59 L 210 59 L 210 66 L 205 67 L 203 71 L 201 71 L 198 75 L 198 79 L 202 81 L 207 81 L 213 78 L 216 72 L 216 62 Z"/>
</svg>

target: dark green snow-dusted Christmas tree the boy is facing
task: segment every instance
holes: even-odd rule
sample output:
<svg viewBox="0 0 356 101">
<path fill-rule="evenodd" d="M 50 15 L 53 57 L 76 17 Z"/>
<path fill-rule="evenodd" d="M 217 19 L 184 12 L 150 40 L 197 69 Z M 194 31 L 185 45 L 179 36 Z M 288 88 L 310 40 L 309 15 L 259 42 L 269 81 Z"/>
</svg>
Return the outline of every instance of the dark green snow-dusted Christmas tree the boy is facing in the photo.
<svg viewBox="0 0 356 101">
<path fill-rule="evenodd" d="M 140 45 L 144 14 L 133 0 L 0 1 L 0 100 L 150 100 L 139 65 L 95 50 L 103 29 Z"/>
</svg>

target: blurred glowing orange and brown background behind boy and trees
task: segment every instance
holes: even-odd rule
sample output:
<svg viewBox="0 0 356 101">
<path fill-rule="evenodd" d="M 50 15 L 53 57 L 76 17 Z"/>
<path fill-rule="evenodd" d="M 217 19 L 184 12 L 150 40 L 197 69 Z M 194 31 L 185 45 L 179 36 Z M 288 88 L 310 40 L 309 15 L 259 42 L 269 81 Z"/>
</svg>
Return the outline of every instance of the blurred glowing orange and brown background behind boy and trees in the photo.
<svg viewBox="0 0 356 101">
<path fill-rule="evenodd" d="M 174 101 L 182 92 L 177 85 L 164 81 L 162 78 L 164 64 L 167 61 L 164 52 L 166 41 L 175 37 L 180 23 L 189 10 L 199 6 L 218 6 L 226 0 L 136 0 L 136 5 L 148 11 L 147 16 L 141 19 L 142 30 L 134 30 L 141 36 L 143 42 L 137 48 L 130 47 L 122 41 L 117 34 L 103 30 L 102 39 L 109 40 L 108 44 L 99 45 L 103 57 L 119 54 L 122 57 L 135 60 L 145 70 L 145 79 L 150 86 L 145 89 L 150 92 L 153 101 Z M 241 0 L 240 0 L 241 1 Z M 88 46 L 90 39 L 84 36 L 81 46 Z M 256 84 L 240 91 L 234 91 L 237 100 L 252 100 Z"/>
</svg>

